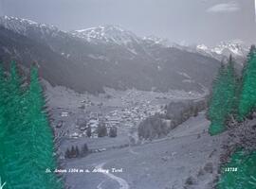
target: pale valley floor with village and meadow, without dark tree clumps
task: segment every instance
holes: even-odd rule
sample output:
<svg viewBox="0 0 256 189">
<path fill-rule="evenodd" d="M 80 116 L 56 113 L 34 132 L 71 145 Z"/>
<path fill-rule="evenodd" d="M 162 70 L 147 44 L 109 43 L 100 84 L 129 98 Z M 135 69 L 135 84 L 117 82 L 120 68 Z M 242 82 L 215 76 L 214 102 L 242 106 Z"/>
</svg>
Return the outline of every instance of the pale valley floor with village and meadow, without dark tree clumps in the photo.
<svg viewBox="0 0 256 189">
<path fill-rule="evenodd" d="M 68 189 L 211 189 L 216 178 L 220 150 L 226 134 L 211 137 L 210 122 L 205 112 L 199 113 L 171 133 L 158 140 L 130 145 L 131 129 L 147 112 L 186 99 L 198 99 L 205 94 L 171 92 L 139 92 L 108 90 L 98 96 L 76 94 L 62 87 L 47 87 L 53 125 L 60 120 L 68 134 L 59 148 L 63 154 L 65 184 Z M 79 107 L 84 105 L 84 109 Z M 68 112 L 62 117 L 62 113 Z M 102 117 L 119 117 L 118 137 L 88 138 L 77 128 L 77 120 L 101 112 Z M 79 133 L 72 137 L 72 133 Z M 134 132 L 135 133 L 135 132 Z M 64 159 L 64 151 L 71 146 L 87 144 L 93 151 L 84 158 Z M 115 170 L 113 170 L 113 168 Z M 80 172 L 82 170 L 82 172 Z M 78 171 L 78 172 L 77 172 Z"/>
</svg>

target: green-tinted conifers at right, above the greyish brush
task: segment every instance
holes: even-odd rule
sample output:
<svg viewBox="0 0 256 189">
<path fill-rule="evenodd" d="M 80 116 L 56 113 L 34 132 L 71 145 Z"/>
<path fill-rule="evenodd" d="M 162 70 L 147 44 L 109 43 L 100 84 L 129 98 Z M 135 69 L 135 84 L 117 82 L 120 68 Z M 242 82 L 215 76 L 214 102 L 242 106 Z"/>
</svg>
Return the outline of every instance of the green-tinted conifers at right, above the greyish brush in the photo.
<svg viewBox="0 0 256 189">
<path fill-rule="evenodd" d="M 251 46 L 247 63 L 239 77 L 234 69 L 234 60 L 222 64 L 215 78 L 210 97 L 208 117 L 210 135 L 227 129 L 230 121 L 243 121 L 256 108 L 256 48 Z"/>
</svg>

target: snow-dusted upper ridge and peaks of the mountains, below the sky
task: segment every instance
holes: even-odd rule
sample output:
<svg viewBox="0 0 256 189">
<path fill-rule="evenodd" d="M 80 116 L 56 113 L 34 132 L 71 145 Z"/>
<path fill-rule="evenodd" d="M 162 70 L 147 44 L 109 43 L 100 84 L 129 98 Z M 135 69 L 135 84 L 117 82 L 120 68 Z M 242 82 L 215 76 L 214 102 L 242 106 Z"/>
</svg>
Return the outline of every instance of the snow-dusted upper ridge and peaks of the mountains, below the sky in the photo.
<svg viewBox="0 0 256 189">
<path fill-rule="evenodd" d="M 72 37 L 77 40 L 83 40 L 86 43 L 107 45 L 109 47 L 108 49 L 121 49 L 121 52 L 126 52 L 125 55 L 130 60 L 134 60 L 137 56 L 146 56 L 159 61 L 161 58 L 153 57 L 152 50 L 172 47 L 182 51 L 199 53 L 215 60 L 227 60 L 229 55 L 232 55 L 235 59 L 238 58 L 240 60 L 239 63 L 242 65 L 248 53 L 248 47 L 241 40 L 228 43 L 222 42 L 214 47 L 209 47 L 205 44 L 189 45 L 186 42 L 171 43 L 167 39 L 153 35 L 144 38 L 138 37 L 135 33 L 121 26 L 97 26 L 65 32 L 59 30 L 56 26 L 38 24 L 28 19 L 11 16 L 0 17 L 0 26 L 4 26 L 9 30 L 27 37 L 30 37 L 30 35 L 40 36 L 38 40 L 46 42 L 53 51 L 58 51 L 58 48 L 56 49 L 49 42 L 50 37 L 59 36 L 63 39 Z M 67 59 L 72 55 L 71 52 L 64 52 L 63 50 L 59 53 L 62 56 L 66 56 Z M 93 55 L 90 58 L 106 60 L 104 57 L 99 57 L 98 55 Z M 161 68 L 157 69 L 159 71 L 161 70 Z"/>
</svg>

